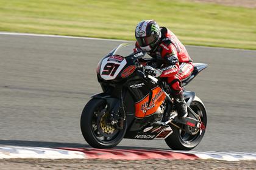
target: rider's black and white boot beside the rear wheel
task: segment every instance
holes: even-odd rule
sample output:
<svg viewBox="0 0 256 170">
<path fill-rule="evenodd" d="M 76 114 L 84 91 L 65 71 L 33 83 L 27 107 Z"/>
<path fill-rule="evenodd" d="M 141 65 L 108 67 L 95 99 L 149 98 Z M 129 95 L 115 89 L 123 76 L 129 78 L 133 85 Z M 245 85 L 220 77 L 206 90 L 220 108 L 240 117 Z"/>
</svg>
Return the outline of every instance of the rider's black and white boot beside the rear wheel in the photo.
<svg viewBox="0 0 256 170">
<path fill-rule="evenodd" d="M 172 96 L 174 98 L 174 104 L 177 109 L 178 118 L 182 119 L 187 117 L 188 109 L 187 109 L 187 104 L 183 97 L 183 92 L 181 91 L 179 94 L 174 94 Z"/>
</svg>

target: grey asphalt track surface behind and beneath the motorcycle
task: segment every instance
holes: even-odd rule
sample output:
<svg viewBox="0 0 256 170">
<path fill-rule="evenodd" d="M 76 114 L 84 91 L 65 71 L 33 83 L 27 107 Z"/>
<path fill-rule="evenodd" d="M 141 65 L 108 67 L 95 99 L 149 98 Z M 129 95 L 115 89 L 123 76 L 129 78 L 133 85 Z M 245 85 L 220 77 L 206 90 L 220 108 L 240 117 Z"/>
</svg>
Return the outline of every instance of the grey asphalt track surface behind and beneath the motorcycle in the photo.
<svg viewBox="0 0 256 170">
<path fill-rule="evenodd" d="M 101 92 L 98 61 L 119 41 L 0 35 L 0 145 L 88 146 L 80 113 Z M 256 51 L 188 46 L 207 63 L 187 87 L 208 110 L 195 151 L 256 151 Z M 119 148 L 169 149 L 165 141 L 127 140 Z"/>
</svg>

